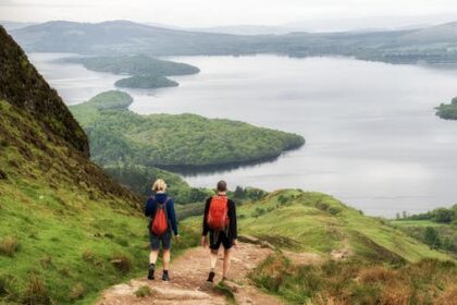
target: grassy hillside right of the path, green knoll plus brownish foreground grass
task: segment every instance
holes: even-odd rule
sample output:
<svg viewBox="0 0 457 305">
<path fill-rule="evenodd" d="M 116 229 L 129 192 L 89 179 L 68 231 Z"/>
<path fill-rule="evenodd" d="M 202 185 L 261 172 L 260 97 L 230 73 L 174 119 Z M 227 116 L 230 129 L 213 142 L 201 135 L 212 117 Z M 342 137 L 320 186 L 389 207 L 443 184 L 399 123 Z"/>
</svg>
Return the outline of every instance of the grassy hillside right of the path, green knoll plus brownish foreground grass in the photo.
<svg viewBox="0 0 457 305">
<path fill-rule="evenodd" d="M 242 235 L 279 249 L 250 278 L 291 304 L 452 304 L 457 295 L 448 255 L 329 195 L 277 191 L 237 212 Z M 323 261 L 301 265 L 286 251 L 317 253 Z"/>
</svg>

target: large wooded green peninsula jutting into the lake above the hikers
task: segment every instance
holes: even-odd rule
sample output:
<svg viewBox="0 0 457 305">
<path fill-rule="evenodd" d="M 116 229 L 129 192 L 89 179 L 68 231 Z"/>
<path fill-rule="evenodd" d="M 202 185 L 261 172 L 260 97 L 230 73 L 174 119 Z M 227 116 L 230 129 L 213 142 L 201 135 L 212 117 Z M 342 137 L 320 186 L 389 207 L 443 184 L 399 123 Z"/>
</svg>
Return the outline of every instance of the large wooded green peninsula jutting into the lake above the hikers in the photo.
<svg viewBox="0 0 457 305">
<path fill-rule="evenodd" d="M 131 102 L 126 94 L 108 91 L 71 107 L 87 131 L 92 159 L 103 167 L 120 160 L 162 168 L 228 166 L 276 157 L 305 143 L 299 135 L 237 121 L 100 109 L 100 100 L 111 105 L 113 98 Z"/>
</svg>

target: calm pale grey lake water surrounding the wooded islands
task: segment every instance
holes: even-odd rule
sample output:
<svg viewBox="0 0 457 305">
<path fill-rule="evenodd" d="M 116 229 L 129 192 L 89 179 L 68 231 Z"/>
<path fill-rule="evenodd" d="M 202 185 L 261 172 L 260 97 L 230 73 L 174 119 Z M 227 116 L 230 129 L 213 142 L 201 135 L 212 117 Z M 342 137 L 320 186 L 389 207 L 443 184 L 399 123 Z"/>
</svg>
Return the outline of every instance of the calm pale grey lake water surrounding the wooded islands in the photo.
<svg viewBox="0 0 457 305">
<path fill-rule="evenodd" d="M 32 54 L 67 103 L 112 89 L 120 76 L 61 54 Z M 172 58 L 201 73 L 180 87 L 127 90 L 138 113 L 192 112 L 298 133 L 304 148 L 273 162 L 186 176 L 195 186 L 300 187 L 332 194 L 369 215 L 424 211 L 457 202 L 457 122 L 434 107 L 457 96 L 457 70 L 347 58 Z M 242 138 L 239 141 L 243 141 Z"/>
</svg>

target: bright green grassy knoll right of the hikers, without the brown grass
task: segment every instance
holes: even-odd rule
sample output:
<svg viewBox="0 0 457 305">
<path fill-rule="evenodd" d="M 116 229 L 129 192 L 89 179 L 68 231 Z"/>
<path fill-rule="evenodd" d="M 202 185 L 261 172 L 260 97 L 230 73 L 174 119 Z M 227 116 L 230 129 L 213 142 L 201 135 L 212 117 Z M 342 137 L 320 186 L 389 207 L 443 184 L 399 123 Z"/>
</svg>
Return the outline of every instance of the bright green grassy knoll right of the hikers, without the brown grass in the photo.
<svg viewBox="0 0 457 305">
<path fill-rule="evenodd" d="M 242 205 L 237 212 L 242 234 L 291 251 L 329 257 L 332 251 L 347 248 L 355 257 L 388 263 L 449 258 L 388 222 L 363 216 L 321 193 L 277 191 L 261 200 Z M 187 221 L 197 225 L 201 220 Z"/>
</svg>

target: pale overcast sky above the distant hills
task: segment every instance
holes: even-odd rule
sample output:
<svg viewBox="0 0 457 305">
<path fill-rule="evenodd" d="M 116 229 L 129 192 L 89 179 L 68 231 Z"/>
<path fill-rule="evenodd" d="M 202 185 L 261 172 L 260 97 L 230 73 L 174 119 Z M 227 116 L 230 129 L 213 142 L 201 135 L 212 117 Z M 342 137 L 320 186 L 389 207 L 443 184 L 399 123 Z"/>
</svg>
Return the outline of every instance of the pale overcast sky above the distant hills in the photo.
<svg viewBox="0 0 457 305">
<path fill-rule="evenodd" d="M 457 5 L 456 0 L 0 0 L 0 20 L 388 27 L 457 20 Z"/>
</svg>

